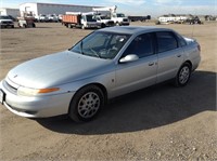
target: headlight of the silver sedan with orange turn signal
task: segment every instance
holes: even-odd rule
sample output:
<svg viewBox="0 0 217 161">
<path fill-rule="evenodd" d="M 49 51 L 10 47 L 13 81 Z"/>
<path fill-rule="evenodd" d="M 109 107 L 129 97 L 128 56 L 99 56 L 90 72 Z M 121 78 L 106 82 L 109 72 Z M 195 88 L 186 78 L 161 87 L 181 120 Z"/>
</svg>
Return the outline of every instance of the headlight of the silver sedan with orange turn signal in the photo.
<svg viewBox="0 0 217 161">
<path fill-rule="evenodd" d="M 39 95 L 39 94 L 48 94 L 48 93 L 52 93 L 55 91 L 59 91 L 59 88 L 50 88 L 50 89 L 29 89 L 29 88 L 24 88 L 24 86 L 20 86 L 17 90 L 17 94 L 18 95 L 23 95 L 23 96 L 35 96 L 35 95 Z"/>
</svg>

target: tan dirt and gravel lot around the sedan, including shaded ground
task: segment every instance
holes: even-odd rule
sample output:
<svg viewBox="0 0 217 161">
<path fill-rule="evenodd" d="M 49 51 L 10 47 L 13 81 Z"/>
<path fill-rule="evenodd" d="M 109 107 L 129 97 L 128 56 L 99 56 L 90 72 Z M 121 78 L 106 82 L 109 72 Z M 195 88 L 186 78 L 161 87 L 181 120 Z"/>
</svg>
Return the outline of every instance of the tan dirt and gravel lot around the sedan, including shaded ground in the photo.
<svg viewBox="0 0 217 161">
<path fill-rule="evenodd" d="M 14 66 L 64 51 L 92 31 L 36 26 L 0 30 L 0 80 Z M 201 44 L 202 62 L 187 86 L 159 84 L 115 98 L 88 123 L 30 120 L 0 105 L 0 160 L 217 160 L 216 24 L 161 27 Z"/>
</svg>

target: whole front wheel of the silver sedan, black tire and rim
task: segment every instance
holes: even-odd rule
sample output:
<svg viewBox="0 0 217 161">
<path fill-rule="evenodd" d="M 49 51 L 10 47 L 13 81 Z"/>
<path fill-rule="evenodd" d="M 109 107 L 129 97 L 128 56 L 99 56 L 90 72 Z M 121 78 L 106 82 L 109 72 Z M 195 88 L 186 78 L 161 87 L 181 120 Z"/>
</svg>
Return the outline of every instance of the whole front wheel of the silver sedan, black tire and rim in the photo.
<svg viewBox="0 0 217 161">
<path fill-rule="evenodd" d="M 76 122 L 90 121 L 98 116 L 104 103 L 104 94 L 100 88 L 85 86 L 71 100 L 68 116 Z"/>
</svg>

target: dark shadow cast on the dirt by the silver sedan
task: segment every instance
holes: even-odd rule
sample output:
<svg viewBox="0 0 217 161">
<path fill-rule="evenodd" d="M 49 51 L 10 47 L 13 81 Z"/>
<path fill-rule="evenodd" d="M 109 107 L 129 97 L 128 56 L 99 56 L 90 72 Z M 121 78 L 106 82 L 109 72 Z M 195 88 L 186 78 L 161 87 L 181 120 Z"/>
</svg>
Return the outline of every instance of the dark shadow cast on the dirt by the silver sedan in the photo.
<svg viewBox="0 0 217 161">
<path fill-rule="evenodd" d="M 154 129 L 207 110 L 216 110 L 216 72 L 195 71 L 184 88 L 164 83 L 112 99 L 90 122 L 67 117 L 37 121 L 58 133 L 98 135 Z"/>
</svg>

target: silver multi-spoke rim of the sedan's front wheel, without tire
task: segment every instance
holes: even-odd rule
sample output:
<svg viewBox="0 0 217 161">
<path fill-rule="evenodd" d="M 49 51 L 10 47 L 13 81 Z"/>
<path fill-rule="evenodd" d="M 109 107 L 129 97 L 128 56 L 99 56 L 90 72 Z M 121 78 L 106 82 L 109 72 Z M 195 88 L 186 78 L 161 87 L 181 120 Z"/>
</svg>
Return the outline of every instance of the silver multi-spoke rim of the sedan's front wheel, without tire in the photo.
<svg viewBox="0 0 217 161">
<path fill-rule="evenodd" d="M 100 97 L 94 92 L 86 93 L 78 103 L 78 113 L 88 119 L 93 117 L 100 108 Z"/>
</svg>

